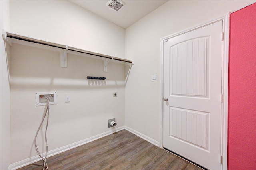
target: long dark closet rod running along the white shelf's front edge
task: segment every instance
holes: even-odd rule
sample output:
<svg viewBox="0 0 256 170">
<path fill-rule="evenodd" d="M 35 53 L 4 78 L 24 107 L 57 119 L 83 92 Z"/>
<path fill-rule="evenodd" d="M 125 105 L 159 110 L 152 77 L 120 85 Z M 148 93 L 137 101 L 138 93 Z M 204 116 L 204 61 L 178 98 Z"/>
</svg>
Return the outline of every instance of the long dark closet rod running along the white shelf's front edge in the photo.
<svg viewBox="0 0 256 170">
<path fill-rule="evenodd" d="M 32 43 L 38 43 L 38 44 L 41 44 L 41 45 L 47 45 L 47 46 L 50 46 L 50 47 L 56 47 L 56 48 L 60 48 L 60 49 L 66 49 L 66 46 L 61 47 L 61 46 L 54 45 L 54 43 L 50 44 L 50 43 L 47 43 L 47 42 L 44 42 L 44 41 L 36 41 L 35 39 L 13 36 L 13 35 L 10 35 L 8 33 L 7 33 L 6 36 L 8 38 L 14 38 L 14 39 L 17 39 L 17 40 L 22 40 L 22 41 L 27 41 L 27 42 L 32 42 Z M 93 53 L 93 52 L 89 52 L 89 51 L 84 51 L 84 50 L 80 50 L 80 49 L 76 49 L 76 48 L 72 48 L 72 47 L 68 47 L 68 50 L 75 51 L 75 52 L 78 52 L 78 53 L 90 54 L 90 55 L 94 55 L 94 56 L 97 56 L 97 57 L 103 57 L 103 58 L 107 58 L 107 59 L 114 59 L 114 60 L 118 60 L 118 61 L 124 61 L 124 62 L 127 62 L 127 63 L 133 63 L 130 60 L 121 59 L 121 58 L 118 58 L 118 57 L 111 57 L 109 55 L 102 55 L 102 54 Z"/>
</svg>

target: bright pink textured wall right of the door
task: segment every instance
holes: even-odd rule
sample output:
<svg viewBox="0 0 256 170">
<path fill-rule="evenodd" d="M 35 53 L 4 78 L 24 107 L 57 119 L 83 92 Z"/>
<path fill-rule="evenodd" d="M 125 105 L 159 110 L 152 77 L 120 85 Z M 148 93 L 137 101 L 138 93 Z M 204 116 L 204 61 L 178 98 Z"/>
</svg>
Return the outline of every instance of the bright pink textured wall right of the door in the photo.
<svg viewBox="0 0 256 170">
<path fill-rule="evenodd" d="M 230 14 L 228 169 L 256 170 L 256 3 Z"/>
</svg>

